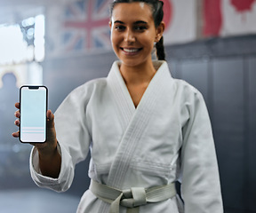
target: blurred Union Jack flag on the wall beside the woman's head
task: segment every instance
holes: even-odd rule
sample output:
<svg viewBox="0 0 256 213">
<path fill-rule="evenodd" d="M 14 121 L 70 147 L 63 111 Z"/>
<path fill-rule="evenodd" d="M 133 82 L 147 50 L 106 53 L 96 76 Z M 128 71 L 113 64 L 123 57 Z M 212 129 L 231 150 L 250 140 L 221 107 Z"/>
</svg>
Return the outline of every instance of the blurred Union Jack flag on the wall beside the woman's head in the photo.
<svg viewBox="0 0 256 213">
<path fill-rule="evenodd" d="M 108 27 L 110 2 L 80 0 L 66 6 L 61 35 L 63 51 L 91 52 L 111 48 Z"/>
</svg>

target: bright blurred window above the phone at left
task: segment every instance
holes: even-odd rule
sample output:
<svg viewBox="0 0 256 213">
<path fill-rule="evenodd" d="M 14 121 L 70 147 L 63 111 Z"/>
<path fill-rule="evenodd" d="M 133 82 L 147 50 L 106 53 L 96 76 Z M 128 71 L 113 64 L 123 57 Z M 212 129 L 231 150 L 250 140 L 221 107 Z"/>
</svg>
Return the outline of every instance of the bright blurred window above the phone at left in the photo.
<svg viewBox="0 0 256 213">
<path fill-rule="evenodd" d="M 3 76 L 12 73 L 17 87 L 43 84 L 44 15 L 37 15 L 13 25 L 0 25 L 0 89 Z"/>
</svg>

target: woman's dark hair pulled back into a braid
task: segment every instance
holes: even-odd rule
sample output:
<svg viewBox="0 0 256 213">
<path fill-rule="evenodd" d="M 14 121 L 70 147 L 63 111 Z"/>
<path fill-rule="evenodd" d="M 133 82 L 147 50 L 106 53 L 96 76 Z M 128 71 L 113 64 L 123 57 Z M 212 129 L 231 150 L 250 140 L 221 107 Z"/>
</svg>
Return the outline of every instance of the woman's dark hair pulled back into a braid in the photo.
<svg viewBox="0 0 256 213">
<path fill-rule="evenodd" d="M 148 4 L 152 8 L 152 15 L 154 19 L 154 23 L 156 28 L 160 25 L 164 18 L 164 11 L 163 11 L 163 6 L 164 3 L 159 0 L 115 0 L 111 5 L 110 5 L 110 14 L 112 16 L 113 9 L 116 4 L 118 3 L 132 3 L 132 2 L 143 2 Z M 156 43 L 156 55 L 157 59 L 159 60 L 164 60 L 165 59 L 165 53 L 164 53 L 164 38 L 160 39 L 159 42 Z"/>
</svg>

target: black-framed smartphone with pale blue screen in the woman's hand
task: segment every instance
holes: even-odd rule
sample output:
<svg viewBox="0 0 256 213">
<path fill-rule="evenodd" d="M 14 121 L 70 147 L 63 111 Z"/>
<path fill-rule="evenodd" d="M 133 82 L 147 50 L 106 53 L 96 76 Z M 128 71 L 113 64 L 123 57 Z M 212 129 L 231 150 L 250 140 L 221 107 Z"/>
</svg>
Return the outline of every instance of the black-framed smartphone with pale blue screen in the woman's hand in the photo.
<svg viewBox="0 0 256 213">
<path fill-rule="evenodd" d="M 45 86 L 20 87 L 20 142 L 46 141 L 47 99 L 48 89 Z"/>
</svg>

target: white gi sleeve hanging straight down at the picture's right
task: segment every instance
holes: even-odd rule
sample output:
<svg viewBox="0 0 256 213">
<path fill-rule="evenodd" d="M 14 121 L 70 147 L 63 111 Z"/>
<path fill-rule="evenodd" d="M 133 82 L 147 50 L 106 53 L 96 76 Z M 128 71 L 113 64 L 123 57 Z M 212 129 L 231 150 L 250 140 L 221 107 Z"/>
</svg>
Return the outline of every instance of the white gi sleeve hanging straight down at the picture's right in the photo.
<svg viewBox="0 0 256 213">
<path fill-rule="evenodd" d="M 185 213 L 223 212 L 220 177 L 212 126 L 200 92 L 186 102 L 188 122 L 183 127 L 181 195 Z"/>
</svg>

